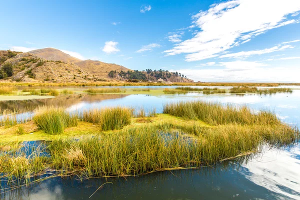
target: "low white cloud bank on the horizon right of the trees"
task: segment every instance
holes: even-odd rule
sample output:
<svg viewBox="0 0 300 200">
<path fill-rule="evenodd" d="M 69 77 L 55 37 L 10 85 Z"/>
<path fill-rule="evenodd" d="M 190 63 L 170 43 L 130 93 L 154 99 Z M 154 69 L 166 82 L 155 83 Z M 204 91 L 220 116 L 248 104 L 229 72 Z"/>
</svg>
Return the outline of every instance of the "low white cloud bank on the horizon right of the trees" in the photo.
<svg viewBox="0 0 300 200">
<path fill-rule="evenodd" d="M 218 65 L 224 67 L 211 69 L 180 69 L 180 72 L 195 81 L 300 82 L 300 77 L 298 76 L 300 68 L 296 65 L 274 67 L 260 62 L 250 61 L 220 62 Z"/>
</svg>

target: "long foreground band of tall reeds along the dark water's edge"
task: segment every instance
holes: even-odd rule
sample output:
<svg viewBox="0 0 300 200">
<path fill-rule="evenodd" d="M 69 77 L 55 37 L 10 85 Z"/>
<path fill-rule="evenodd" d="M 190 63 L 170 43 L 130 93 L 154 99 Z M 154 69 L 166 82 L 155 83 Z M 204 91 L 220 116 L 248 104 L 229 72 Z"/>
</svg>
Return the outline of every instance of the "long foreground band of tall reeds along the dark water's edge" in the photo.
<svg viewBox="0 0 300 200">
<path fill-rule="evenodd" d="M 142 124 L 99 136 L 54 139 L 43 157 L 0 155 L 6 177 L 30 177 L 53 169 L 60 175 L 84 177 L 138 175 L 158 170 L 199 167 L 222 160 L 243 161 L 244 155 L 294 144 L 299 131 L 285 124 L 229 124 L 202 127 L 195 124 Z M 191 136 L 194 135 L 194 136 Z"/>
</svg>

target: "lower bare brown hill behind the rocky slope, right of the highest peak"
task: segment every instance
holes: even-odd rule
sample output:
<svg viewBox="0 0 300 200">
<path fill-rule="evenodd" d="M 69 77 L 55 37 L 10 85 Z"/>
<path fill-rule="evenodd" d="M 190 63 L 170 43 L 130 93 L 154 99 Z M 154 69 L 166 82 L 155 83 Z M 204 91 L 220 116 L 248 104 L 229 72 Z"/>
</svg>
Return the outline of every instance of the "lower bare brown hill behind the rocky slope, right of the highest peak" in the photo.
<svg viewBox="0 0 300 200">
<path fill-rule="evenodd" d="M 111 70 L 131 71 L 131 69 L 128 69 L 124 66 L 113 64 L 113 63 L 101 62 L 98 60 L 87 59 L 87 60 L 75 62 L 75 64 L 78 65 L 82 70 L 88 72 L 90 76 L 101 77 L 101 78 L 109 78 L 108 72 Z"/>
</svg>

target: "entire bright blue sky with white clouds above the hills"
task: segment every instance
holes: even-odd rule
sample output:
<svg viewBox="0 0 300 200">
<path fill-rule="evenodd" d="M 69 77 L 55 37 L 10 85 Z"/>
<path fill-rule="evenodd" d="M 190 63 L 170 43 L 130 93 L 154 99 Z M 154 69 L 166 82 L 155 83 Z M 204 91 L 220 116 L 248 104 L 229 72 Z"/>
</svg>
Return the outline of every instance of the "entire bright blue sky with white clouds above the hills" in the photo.
<svg viewBox="0 0 300 200">
<path fill-rule="evenodd" d="M 300 0 L 1 2 L 0 49 L 53 47 L 206 82 L 300 82 Z"/>
</svg>

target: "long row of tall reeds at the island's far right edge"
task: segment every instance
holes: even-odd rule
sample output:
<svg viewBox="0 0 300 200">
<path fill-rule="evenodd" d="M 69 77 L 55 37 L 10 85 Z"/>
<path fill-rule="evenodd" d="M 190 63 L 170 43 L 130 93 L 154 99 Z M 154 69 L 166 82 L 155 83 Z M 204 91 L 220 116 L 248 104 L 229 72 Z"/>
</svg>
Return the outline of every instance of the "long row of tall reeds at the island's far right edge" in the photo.
<svg viewBox="0 0 300 200">
<path fill-rule="evenodd" d="M 163 105 L 163 113 L 188 119 L 200 119 L 212 125 L 217 124 L 280 124 L 280 120 L 270 111 L 254 114 L 247 106 L 240 108 L 232 105 L 205 101 L 175 102 Z"/>
</svg>

